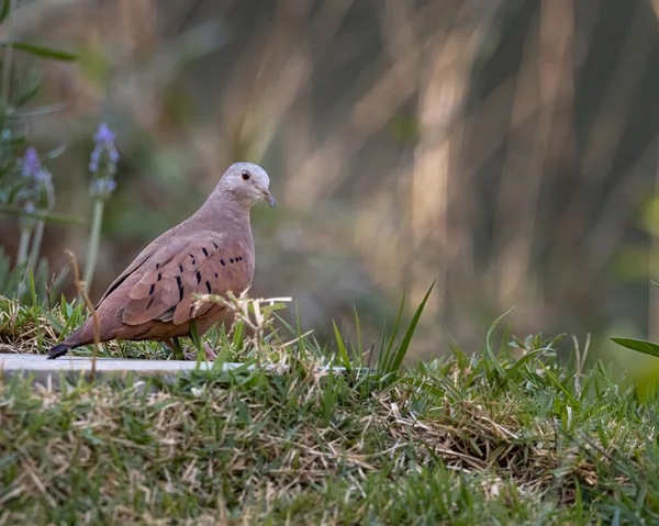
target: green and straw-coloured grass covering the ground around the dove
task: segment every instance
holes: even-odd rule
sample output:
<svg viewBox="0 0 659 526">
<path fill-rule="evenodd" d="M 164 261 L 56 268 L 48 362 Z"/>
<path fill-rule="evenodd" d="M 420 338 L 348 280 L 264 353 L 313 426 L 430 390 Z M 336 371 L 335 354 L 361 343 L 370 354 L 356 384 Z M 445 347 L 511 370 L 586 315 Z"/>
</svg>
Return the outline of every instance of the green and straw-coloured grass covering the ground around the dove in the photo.
<svg viewBox="0 0 659 526">
<path fill-rule="evenodd" d="M 82 312 L 2 300 L 0 316 L 0 350 L 44 352 Z M 495 345 L 493 326 L 482 354 L 449 340 L 450 356 L 395 372 L 390 355 L 365 373 L 338 331 L 336 354 L 293 333 L 258 352 L 212 336 L 222 360 L 286 361 L 281 374 L 58 390 L 0 379 L 0 524 L 659 521 L 656 391 L 624 388 L 601 362 L 582 371 L 577 342 Z M 382 348 L 404 354 L 406 335 Z M 156 344 L 103 352 L 165 356 Z M 345 360 L 344 373 L 317 370 Z"/>
</svg>

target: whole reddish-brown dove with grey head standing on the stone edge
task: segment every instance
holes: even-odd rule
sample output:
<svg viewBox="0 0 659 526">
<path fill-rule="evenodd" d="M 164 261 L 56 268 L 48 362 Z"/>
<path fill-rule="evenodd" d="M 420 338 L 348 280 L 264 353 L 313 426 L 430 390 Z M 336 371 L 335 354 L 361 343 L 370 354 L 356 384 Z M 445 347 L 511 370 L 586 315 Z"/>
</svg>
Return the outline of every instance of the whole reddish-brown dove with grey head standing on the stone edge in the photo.
<svg viewBox="0 0 659 526">
<path fill-rule="evenodd" d="M 100 340 L 164 340 L 174 348 L 190 336 L 191 321 L 199 335 L 222 321 L 226 307 L 192 307 L 193 294 L 238 295 L 254 277 L 254 238 L 249 209 L 258 201 L 275 208 L 266 171 L 236 163 L 191 217 L 148 245 L 105 291 L 96 306 Z M 93 318 L 48 351 L 48 359 L 92 344 Z M 214 352 L 204 344 L 206 358 Z"/>
</svg>

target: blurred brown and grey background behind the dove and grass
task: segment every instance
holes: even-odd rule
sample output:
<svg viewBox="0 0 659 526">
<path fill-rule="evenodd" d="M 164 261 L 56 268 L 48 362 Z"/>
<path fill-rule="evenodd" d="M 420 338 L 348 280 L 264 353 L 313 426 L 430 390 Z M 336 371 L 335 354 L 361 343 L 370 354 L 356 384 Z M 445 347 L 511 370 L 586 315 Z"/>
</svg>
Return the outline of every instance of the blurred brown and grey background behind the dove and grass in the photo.
<svg viewBox="0 0 659 526">
<path fill-rule="evenodd" d="M 121 161 L 92 299 L 186 219 L 226 167 L 258 163 L 253 295 L 292 295 L 319 338 L 372 335 L 403 290 L 436 287 L 415 351 L 490 323 L 659 339 L 659 2 L 652 0 L 19 1 L 40 61 L 26 120 L 56 212 L 89 221 L 100 122 Z M 4 36 L 7 27 L 4 25 Z M 14 254 L 18 221 L 0 216 Z M 83 262 L 88 225 L 48 224 L 43 256 Z M 65 289 L 72 292 L 69 286 Z M 294 313 L 293 313 L 294 315 Z M 626 355 L 627 356 L 627 355 Z"/>
</svg>

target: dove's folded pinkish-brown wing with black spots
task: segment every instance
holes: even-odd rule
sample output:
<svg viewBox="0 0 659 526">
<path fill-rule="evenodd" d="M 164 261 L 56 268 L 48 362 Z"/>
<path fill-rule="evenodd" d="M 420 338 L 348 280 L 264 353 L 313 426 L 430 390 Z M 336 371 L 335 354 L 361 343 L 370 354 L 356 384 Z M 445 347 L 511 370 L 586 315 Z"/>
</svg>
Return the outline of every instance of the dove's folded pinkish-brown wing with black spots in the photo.
<svg viewBox="0 0 659 526">
<path fill-rule="evenodd" d="M 243 292 L 254 271 L 249 250 L 248 244 L 210 231 L 169 239 L 134 270 L 139 279 L 120 301 L 120 321 L 141 325 L 158 320 L 180 325 L 202 316 L 213 305 L 194 312 L 192 294 Z"/>
</svg>

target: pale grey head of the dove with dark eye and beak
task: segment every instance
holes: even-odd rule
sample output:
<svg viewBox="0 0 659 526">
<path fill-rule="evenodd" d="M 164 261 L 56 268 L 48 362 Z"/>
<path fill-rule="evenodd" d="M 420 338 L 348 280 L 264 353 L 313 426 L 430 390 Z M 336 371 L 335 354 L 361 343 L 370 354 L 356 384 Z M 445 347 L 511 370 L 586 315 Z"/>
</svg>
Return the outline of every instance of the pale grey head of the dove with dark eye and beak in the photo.
<svg viewBox="0 0 659 526">
<path fill-rule="evenodd" d="M 260 166 L 252 163 L 236 163 L 224 172 L 217 190 L 231 193 L 236 201 L 246 206 L 265 201 L 275 208 L 277 203 L 268 190 L 269 186 L 270 178 Z"/>
</svg>

